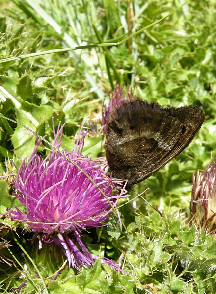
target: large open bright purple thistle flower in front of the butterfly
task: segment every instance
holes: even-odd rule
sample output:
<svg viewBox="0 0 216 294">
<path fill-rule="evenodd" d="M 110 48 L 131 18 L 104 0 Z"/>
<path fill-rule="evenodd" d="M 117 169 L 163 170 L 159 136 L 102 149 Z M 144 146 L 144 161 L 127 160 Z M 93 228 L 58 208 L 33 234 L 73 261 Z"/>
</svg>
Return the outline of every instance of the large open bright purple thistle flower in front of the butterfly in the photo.
<svg viewBox="0 0 216 294">
<path fill-rule="evenodd" d="M 57 133 L 54 131 L 54 147 L 58 149 L 63 127 L 58 126 Z M 119 190 L 117 185 L 121 183 L 106 175 L 108 164 L 104 158 L 93 161 L 82 156 L 85 136 L 86 132 L 83 132 L 72 152 L 62 152 L 80 166 L 116 206 L 123 196 L 113 193 L 113 189 Z M 83 244 L 81 231 L 106 225 L 102 221 L 107 219 L 112 208 L 90 179 L 59 152 L 52 149 L 45 159 L 38 156 L 41 141 L 36 138 L 31 157 L 27 162 L 22 161 L 12 181 L 17 189 L 14 195 L 26 207 L 26 213 L 15 207 L 8 210 L 9 217 L 25 222 L 42 241 L 56 243 L 68 258 L 69 267 L 78 270 L 83 265 L 89 267 L 97 257 L 92 256 Z M 118 268 L 113 261 L 102 259 L 102 262 Z"/>
</svg>

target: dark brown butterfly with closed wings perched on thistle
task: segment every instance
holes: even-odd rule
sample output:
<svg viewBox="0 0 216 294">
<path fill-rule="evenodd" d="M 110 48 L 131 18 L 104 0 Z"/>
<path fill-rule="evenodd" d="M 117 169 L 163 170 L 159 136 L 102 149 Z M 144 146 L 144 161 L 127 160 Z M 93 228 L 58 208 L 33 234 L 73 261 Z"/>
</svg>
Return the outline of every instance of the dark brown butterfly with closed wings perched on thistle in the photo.
<svg viewBox="0 0 216 294">
<path fill-rule="evenodd" d="M 106 157 L 112 176 L 127 190 L 159 171 L 193 140 L 205 119 L 197 106 L 163 108 L 139 98 L 122 102 L 109 115 Z"/>
</svg>

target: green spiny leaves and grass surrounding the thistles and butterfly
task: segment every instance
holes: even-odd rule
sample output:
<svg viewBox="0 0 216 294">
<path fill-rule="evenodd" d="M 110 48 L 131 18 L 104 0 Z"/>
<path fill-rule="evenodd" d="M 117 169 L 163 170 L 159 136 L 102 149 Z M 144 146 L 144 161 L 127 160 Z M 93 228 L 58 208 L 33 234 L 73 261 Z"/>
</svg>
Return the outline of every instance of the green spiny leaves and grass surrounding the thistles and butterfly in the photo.
<svg viewBox="0 0 216 294">
<path fill-rule="evenodd" d="M 98 121 L 102 101 L 119 82 L 135 88 L 135 95 L 162 106 L 198 105 L 206 122 L 189 147 L 161 171 L 136 185 L 131 197 L 120 199 L 123 232 L 116 216 L 109 226 L 82 235 L 92 254 L 118 262 L 115 272 L 100 260 L 81 272 L 61 268 L 64 257 L 56 248 L 38 242 L 16 228 L 19 242 L 40 270 L 47 293 L 216 293 L 216 240 L 214 235 L 190 226 L 189 201 L 192 174 L 204 169 L 211 152 L 216 156 L 216 1 L 189 1 L 162 22 L 121 45 L 118 42 L 177 8 L 178 0 L 80 1 L 7 0 L 0 2 L 0 113 L 39 131 L 53 142 L 52 118 L 66 123 L 62 147 L 74 148 L 76 135 L 89 120 Z M 80 50 L 64 50 L 88 45 Z M 46 54 L 41 52 L 48 51 Z M 35 53 L 35 55 L 30 55 Z M 49 54 L 48 54 L 49 53 Z M 25 55 L 16 60 L 3 59 Z M 84 155 L 104 155 L 104 137 L 85 139 Z M 14 174 L 10 159 L 19 167 L 29 157 L 35 137 L 14 122 L 0 118 L 0 170 Z M 41 144 L 42 156 L 49 146 Z M 9 182 L 9 181 L 8 181 Z M 161 215 L 151 205 L 158 208 Z M 0 212 L 8 207 L 24 210 L 14 191 L 0 181 Z M 14 265 L 0 263 L 0 292 L 44 293 L 35 267 L 18 248 L 11 234 L 16 223 L 1 216 L 1 237 L 11 241 L 11 253 L 0 253 Z M 33 242 L 33 241 L 32 241 Z M 36 244 L 36 245 L 35 245 Z M 19 263 L 20 264 L 19 264 Z M 26 278 L 24 265 L 31 278 Z M 59 270 L 59 272 L 58 272 Z M 58 272 L 58 274 L 57 274 Z M 53 280 L 53 277 L 55 279 Z M 36 285 L 36 286 L 35 286 Z M 37 290 L 35 290 L 37 289 Z M 38 290 L 39 289 L 39 290 Z"/>
</svg>

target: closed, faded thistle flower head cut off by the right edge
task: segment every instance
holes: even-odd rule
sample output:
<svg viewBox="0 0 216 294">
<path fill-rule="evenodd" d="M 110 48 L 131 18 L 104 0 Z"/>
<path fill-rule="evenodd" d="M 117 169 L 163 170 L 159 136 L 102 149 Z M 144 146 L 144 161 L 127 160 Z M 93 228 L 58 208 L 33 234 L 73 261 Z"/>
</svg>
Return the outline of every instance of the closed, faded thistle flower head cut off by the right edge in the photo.
<svg viewBox="0 0 216 294">
<path fill-rule="evenodd" d="M 216 229 L 216 158 L 204 172 L 193 174 L 190 212 L 197 226 L 206 231 Z"/>
</svg>

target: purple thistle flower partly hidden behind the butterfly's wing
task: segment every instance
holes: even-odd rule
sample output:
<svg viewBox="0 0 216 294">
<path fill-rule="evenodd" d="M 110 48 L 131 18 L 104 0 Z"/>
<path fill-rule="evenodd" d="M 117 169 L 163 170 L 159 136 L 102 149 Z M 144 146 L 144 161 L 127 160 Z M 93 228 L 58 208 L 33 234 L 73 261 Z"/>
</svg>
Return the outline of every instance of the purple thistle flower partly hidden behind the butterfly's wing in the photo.
<svg viewBox="0 0 216 294">
<path fill-rule="evenodd" d="M 112 93 L 112 97 L 110 99 L 108 107 L 103 103 L 101 125 L 102 125 L 102 131 L 104 132 L 104 134 L 107 131 L 108 119 L 112 110 L 119 107 L 122 102 L 132 100 L 135 98 L 133 92 L 129 93 L 129 86 L 128 86 L 126 98 L 123 99 L 123 90 L 124 90 L 124 87 L 121 88 L 121 86 L 118 85 Z"/>
</svg>

